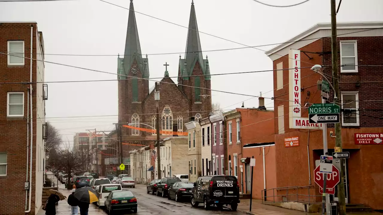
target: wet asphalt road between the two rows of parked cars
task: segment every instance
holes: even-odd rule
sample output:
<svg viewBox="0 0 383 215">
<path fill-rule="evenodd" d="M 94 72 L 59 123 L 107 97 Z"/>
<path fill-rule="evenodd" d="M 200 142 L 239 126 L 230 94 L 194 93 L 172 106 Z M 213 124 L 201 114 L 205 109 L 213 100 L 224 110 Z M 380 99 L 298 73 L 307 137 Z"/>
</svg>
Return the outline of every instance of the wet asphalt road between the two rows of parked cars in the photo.
<svg viewBox="0 0 383 215">
<path fill-rule="evenodd" d="M 190 205 L 190 202 L 175 202 L 174 200 L 169 200 L 167 197 L 163 198 L 160 196 L 147 194 L 146 185 L 137 184 L 136 188 L 129 188 L 130 191 L 137 198 L 138 215 L 152 215 L 152 214 L 166 214 L 166 215 L 245 215 L 239 211 L 231 211 L 229 208 L 223 208 L 221 211 L 216 207 L 212 207 L 211 210 L 203 209 L 203 205 L 200 204 L 198 208 L 193 208 Z M 105 210 L 98 209 L 96 205 L 91 204 L 89 207 L 89 214 L 107 214 Z M 123 214 L 134 214 L 133 212 L 123 213 Z"/>
</svg>

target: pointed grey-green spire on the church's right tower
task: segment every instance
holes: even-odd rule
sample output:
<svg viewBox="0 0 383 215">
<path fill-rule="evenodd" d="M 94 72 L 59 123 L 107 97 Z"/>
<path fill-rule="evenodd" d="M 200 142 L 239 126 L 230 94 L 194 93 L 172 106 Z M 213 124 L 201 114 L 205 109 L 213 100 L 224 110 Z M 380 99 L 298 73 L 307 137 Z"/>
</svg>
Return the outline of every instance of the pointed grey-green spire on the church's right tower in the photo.
<svg viewBox="0 0 383 215">
<path fill-rule="evenodd" d="M 204 62 L 202 58 L 202 49 L 200 42 L 200 34 L 198 33 L 197 18 L 195 15 L 194 2 L 191 1 L 190 18 L 188 37 L 185 50 L 185 61 L 188 65 L 188 70 L 192 70 L 195 65 L 195 60 L 198 60 L 202 68 L 204 68 Z"/>
</svg>

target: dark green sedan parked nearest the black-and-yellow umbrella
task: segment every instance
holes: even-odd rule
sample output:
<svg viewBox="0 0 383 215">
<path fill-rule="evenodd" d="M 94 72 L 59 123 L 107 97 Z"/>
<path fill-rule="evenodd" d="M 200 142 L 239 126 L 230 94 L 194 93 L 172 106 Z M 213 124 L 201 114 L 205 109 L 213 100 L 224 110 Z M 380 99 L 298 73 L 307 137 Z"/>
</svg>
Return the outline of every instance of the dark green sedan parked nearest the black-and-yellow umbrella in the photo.
<svg viewBox="0 0 383 215">
<path fill-rule="evenodd" d="M 131 191 L 111 191 L 105 198 L 105 207 L 110 215 L 123 210 L 133 210 L 134 213 L 137 213 L 137 199 Z"/>
</svg>

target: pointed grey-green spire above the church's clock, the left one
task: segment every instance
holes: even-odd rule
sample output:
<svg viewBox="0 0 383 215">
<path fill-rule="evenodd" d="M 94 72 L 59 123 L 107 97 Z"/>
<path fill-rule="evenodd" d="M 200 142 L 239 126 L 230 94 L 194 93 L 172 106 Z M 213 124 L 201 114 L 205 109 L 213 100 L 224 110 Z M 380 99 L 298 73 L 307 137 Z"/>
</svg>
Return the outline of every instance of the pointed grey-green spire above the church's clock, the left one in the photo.
<svg viewBox="0 0 383 215">
<path fill-rule="evenodd" d="M 124 69 L 126 75 L 130 70 L 134 60 L 138 64 L 138 68 L 143 71 L 144 63 L 141 56 L 140 40 L 138 38 L 138 30 L 136 23 L 136 15 L 134 15 L 133 0 L 130 1 L 128 29 L 126 31 Z"/>
</svg>

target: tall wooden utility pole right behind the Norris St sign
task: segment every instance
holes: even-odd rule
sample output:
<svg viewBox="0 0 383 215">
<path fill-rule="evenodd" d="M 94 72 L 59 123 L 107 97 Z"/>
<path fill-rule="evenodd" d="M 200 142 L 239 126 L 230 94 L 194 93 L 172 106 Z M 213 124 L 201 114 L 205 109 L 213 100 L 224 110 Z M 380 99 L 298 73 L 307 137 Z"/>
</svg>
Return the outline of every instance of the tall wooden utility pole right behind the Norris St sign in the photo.
<svg viewBox="0 0 383 215">
<path fill-rule="evenodd" d="M 337 29 L 336 29 L 336 3 L 331 1 L 331 53 L 332 53 L 332 83 L 334 84 L 335 95 L 334 102 L 339 103 L 339 79 L 338 79 L 338 46 L 337 46 Z M 342 132 L 340 123 L 335 123 L 335 146 L 340 147 L 342 151 Z M 339 214 L 346 215 L 346 203 L 344 195 L 344 159 L 340 159 L 340 182 L 338 184 L 338 204 Z"/>
</svg>

